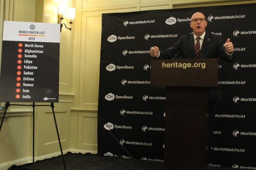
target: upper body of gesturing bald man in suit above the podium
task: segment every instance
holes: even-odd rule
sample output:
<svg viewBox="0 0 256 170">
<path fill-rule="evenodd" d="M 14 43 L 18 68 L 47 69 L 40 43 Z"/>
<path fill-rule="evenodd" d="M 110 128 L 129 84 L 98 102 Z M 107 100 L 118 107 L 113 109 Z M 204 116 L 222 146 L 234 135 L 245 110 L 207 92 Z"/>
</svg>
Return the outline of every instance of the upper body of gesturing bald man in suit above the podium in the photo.
<svg viewBox="0 0 256 170">
<path fill-rule="evenodd" d="M 205 31 L 207 20 L 201 12 L 196 12 L 191 17 L 190 27 L 193 34 L 183 35 L 169 49 L 159 50 L 157 46 L 150 48 L 151 57 L 158 59 L 172 59 L 176 54 L 182 58 L 220 58 L 223 61 L 231 62 L 234 59 L 234 47 L 230 39 L 224 44 L 221 36 Z M 196 56 L 195 45 L 197 37 L 200 37 L 200 50 Z"/>
</svg>

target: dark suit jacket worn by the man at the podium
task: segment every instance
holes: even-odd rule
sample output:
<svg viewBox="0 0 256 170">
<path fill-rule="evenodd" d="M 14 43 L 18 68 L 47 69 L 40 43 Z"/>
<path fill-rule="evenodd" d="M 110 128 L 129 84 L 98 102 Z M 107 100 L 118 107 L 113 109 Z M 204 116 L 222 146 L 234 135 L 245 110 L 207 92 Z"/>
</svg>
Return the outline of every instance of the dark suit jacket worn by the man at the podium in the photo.
<svg viewBox="0 0 256 170">
<path fill-rule="evenodd" d="M 219 35 L 211 34 L 206 32 L 203 44 L 200 50 L 201 58 L 220 58 L 223 61 L 231 62 L 234 59 L 228 58 L 222 37 Z M 195 41 L 193 33 L 189 35 L 182 35 L 180 39 L 166 51 L 159 50 L 160 55 L 158 59 L 172 59 L 176 54 L 180 53 L 182 58 L 196 58 Z"/>
</svg>

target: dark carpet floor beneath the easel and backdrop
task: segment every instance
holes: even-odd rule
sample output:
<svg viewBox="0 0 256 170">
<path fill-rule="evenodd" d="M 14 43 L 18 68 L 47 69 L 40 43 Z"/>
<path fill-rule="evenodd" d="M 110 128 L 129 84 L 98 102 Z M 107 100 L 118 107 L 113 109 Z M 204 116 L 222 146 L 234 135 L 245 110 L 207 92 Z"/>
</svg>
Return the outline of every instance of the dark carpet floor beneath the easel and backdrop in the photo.
<svg viewBox="0 0 256 170">
<path fill-rule="evenodd" d="M 68 152 L 64 155 L 64 162 L 67 170 L 163 170 L 162 162 L 102 157 L 90 153 L 72 154 Z M 64 164 L 62 157 L 58 156 L 25 165 L 12 165 L 8 170 L 64 170 Z M 208 167 L 207 170 L 234 169 L 227 167 Z"/>
</svg>

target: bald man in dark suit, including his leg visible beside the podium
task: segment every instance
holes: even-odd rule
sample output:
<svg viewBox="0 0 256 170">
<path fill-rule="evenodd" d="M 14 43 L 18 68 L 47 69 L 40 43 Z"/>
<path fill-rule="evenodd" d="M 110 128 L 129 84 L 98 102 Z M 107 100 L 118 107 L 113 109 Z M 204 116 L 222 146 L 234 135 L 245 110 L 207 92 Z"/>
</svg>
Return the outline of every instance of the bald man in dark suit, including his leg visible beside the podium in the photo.
<svg viewBox="0 0 256 170">
<path fill-rule="evenodd" d="M 231 62 L 234 60 L 234 46 L 227 39 L 225 43 L 219 35 L 211 34 L 205 31 L 207 20 L 203 13 L 196 12 L 191 17 L 190 27 L 193 33 L 182 35 L 180 39 L 169 49 L 159 50 L 157 46 L 150 48 L 151 57 L 157 59 L 172 59 L 178 55 L 182 58 L 220 58 L 223 61 Z M 200 38 L 199 38 L 200 37 Z M 221 90 L 211 88 L 208 96 L 208 147 L 211 147 L 212 131 L 214 130 L 215 104 L 222 99 Z M 210 151 L 211 148 L 208 148 Z"/>
</svg>

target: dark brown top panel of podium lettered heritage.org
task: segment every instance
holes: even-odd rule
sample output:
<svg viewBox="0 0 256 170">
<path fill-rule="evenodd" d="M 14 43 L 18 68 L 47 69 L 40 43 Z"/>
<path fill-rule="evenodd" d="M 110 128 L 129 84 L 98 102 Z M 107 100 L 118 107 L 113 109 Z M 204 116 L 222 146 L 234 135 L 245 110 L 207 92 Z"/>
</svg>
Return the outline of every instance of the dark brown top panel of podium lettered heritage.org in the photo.
<svg viewBox="0 0 256 170">
<path fill-rule="evenodd" d="M 217 87 L 218 59 L 151 60 L 151 86 Z"/>
</svg>

